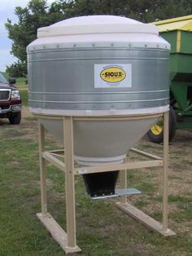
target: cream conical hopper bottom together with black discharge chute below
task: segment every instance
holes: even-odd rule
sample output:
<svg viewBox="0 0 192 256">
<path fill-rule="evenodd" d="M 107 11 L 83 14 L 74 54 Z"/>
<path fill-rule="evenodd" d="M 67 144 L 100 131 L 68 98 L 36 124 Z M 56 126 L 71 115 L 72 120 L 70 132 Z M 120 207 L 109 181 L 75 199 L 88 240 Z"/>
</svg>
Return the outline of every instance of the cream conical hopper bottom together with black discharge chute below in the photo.
<svg viewBox="0 0 192 256">
<path fill-rule="evenodd" d="M 133 147 L 155 122 L 154 116 L 133 120 L 116 121 L 74 121 L 74 153 L 80 166 L 102 166 L 124 161 L 127 152 Z M 41 118 L 41 124 L 63 142 L 63 118 L 52 120 Z M 119 171 L 83 174 L 85 188 L 91 197 L 115 196 Z"/>
</svg>

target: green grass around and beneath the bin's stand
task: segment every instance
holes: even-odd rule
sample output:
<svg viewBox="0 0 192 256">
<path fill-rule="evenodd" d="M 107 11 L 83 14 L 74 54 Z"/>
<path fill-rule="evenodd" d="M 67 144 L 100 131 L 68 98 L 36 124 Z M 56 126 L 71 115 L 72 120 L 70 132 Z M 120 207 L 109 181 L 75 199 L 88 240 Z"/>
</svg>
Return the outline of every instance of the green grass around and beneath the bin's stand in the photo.
<svg viewBox="0 0 192 256">
<path fill-rule="evenodd" d="M 0 131 L 0 255 L 63 255 L 36 217 L 40 211 L 37 124 L 25 118 L 20 126 L 4 125 Z M 48 141 L 46 148 L 55 145 Z M 154 172 L 154 170 L 153 170 Z M 155 200 L 157 184 L 141 170 L 129 170 L 128 183 L 144 192 L 137 196 L 137 207 L 150 207 Z M 64 175 L 53 166 L 47 168 L 49 211 L 66 227 Z M 169 196 L 177 204 L 170 214 L 174 230 L 185 227 L 192 217 L 190 196 Z M 76 178 L 76 232 L 80 255 L 192 255 L 192 242 L 187 232 L 164 238 L 116 209 L 114 200 L 91 201 L 85 193 L 81 176 Z M 161 219 L 160 210 L 151 215 Z"/>
</svg>

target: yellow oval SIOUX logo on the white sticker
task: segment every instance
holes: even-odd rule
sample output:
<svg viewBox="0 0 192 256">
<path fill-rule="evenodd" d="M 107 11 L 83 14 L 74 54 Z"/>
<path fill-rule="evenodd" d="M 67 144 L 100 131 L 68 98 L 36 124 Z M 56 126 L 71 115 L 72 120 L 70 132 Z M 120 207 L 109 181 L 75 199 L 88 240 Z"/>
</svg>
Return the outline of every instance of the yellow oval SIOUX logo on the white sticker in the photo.
<svg viewBox="0 0 192 256">
<path fill-rule="evenodd" d="M 121 82 L 126 77 L 126 73 L 123 68 L 109 67 L 102 70 L 100 77 L 105 82 Z"/>
</svg>

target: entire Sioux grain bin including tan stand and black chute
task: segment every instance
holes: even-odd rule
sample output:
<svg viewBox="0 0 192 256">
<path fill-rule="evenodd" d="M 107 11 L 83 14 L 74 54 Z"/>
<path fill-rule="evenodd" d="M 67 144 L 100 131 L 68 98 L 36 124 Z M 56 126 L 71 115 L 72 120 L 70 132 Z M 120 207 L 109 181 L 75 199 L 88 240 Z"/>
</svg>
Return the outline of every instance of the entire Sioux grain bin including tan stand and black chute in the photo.
<svg viewBox="0 0 192 256">
<path fill-rule="evenodd" d="M 174 236 L 168 229 L 168 42 L 154 25 L 94 15 L 38 29 L 27 51 L 29 104 L 39 122 L 37 217 L 55 241 L 66 254 L 81 251 L 76 245 L 76 175 L 84 175 L 90 196 L 114 196 L 118 172 L 122 191 L 126 170 L 155 166 L 164 169 L 163 223 L 130 205 L 126 196 L 116 206 L 163 236 Z M 164 157 L 132 148 L 160 116 Z M 45 129 L 64 144 L 64 162 L 63 149 L 46 152 Z M 152 160 L 125 159 L 130 148 Z M 47 211 L 46 161 L 65 173 L 67 232 Z M 134 188 L 125 190 L 137 194 Z"/>
</svg>

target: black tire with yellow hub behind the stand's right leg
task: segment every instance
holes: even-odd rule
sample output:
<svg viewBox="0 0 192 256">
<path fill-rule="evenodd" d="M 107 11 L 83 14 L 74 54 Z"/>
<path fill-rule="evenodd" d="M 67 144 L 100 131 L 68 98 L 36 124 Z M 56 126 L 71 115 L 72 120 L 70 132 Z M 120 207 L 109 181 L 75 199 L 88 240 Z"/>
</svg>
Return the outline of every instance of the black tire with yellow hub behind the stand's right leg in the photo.
<svg viewBox="0 0 192 256">
<path fill-rule="evenodd" d="M 151 126 L 151 129 L 147 132 L 147 136 L 153 143 L 163 143 L 164 141 L 164 121 L 163 117 L 160 117 L 155 125 Z M 170 106 L 169 121 L 168 121 L 168 140 L 172 140 L 176 133 L 176 114 L 174 109 Z"/>
</svg>

